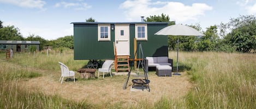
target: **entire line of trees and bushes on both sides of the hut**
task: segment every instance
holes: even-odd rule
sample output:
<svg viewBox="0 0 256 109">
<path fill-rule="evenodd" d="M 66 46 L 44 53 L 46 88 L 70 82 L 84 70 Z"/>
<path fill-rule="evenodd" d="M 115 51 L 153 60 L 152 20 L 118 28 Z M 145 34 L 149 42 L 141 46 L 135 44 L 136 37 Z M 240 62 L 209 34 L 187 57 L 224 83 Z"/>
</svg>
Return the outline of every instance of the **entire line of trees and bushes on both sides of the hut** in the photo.
<svg viewBox="0 0 256 109">
<path fill-rule="evenodd" d="M 145 22 L 168 22 L 168 25 L 176 24 L 175 21 L 170 21 L 168 15 L 154 15 L 146 17 Z M 86 22 L 96 22 L 92 17 L 86 19 Z M 240 15 L 237 18 L 230 18 L 228 23 L 219 25 L 210 25 L 205 31 L 200 27 L 200 24 L 188 25 L 199 31 L 205 36 L 181 36 L 178 48 L 187 52 L 242 52 L 249 53 L 256 50 L 256 17 L 254 15 Z M 0 21 L 0 40 L 26 40 L 40 41 L 40 50 L 44 46 L 53 48 L 70 48 L 73 49 L 73 36 L 64 36 L 56 40 L 45 40 L 37 35 L 29 35 L 23 37 L 19 32 L 19 28 L 14 25 L 3 26 Z M 170 50 L 177 48 L 177 36 L 168 36 L 168 45 Z"/>
</svg>

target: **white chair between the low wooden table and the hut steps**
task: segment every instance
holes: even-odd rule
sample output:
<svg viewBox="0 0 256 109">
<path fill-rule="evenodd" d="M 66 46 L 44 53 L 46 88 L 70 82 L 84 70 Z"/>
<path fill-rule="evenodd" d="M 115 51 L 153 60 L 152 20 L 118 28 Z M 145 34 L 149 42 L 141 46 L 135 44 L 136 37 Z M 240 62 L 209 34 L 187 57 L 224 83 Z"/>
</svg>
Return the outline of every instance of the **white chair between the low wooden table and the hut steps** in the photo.
<svg viewBox="0 0 256 109">
<path fill-rule="evenodd" d="M 105 73 L 110 73 L 110 76 L 112 77 L 112 74 L 111 74 L 111 69 L 112 69 L 112 63 L 114 61 L 113 60 L 106 60 L 103 65 L 102 65 L 102 68 L 99 68 L 98 69 L 98 78 L 99 78 L 99 73 L 100 72 L 103 72 L 103 78 L 104 78 L 104 75 Z"/>
</svg>

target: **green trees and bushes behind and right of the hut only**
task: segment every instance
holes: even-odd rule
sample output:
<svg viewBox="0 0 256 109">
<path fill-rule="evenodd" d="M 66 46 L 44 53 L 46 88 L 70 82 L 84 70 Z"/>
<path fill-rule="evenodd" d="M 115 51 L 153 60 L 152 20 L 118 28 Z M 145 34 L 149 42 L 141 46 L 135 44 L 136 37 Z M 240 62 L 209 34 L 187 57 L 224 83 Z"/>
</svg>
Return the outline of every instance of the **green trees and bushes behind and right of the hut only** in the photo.
<svg viewBox="0 0 256 109">
<path fill-rule="evenodd" d="M 146 22 L 168 22 L 168 25 L 175 24 L 170 21 L 167 15 L 154 15 L 147 17 Z M 181 36 L 178 48 L 187 52 L 256 52 L 256 17 L 254 15 L 240 15 L 237 18 L 230 18 L 228 23 L 211 25 L 203 31 L 200 24 L 188 25 L 205 36 Z M 177 48 L 177 36 L 168 36 L 170 50 Z"/>
</svg>

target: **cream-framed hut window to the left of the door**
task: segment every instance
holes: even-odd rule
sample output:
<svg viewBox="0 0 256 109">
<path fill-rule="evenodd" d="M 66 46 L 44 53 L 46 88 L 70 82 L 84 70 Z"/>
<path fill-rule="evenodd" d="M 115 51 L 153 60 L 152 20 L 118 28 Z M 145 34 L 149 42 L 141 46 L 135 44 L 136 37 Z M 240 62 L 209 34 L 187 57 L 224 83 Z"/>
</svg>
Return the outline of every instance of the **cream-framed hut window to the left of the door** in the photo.
<svg viewBox="0 0 256 109">
<path fill-rule="evenodd" d="M 110 41 L 110 24 L 98 25 L 98 41 Z"/>
</svg>

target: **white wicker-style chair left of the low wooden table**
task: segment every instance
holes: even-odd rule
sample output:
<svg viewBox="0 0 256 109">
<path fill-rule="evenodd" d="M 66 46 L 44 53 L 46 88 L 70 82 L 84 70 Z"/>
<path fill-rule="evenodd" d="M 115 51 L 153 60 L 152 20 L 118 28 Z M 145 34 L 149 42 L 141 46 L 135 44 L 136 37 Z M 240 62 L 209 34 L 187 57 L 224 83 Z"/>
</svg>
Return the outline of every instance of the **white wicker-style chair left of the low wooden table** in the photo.
<svg viewBox="0 0 256 109">
<path fill-rule="evenodd" d="M 59 81 L 61 81 L 61 84 L 63 82 L 63 78 L 64 77 L 70 77 L 70 76 L 74 76 L 74 82 L 75 82 L 75 72 L 73 70 L 69 70 L 68 67 L 66 65 L 64 65 L 61 62 L 58 62 L 59 65 L 61 66 L 61 78 L 59 79 Z"/>
</svg>

